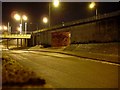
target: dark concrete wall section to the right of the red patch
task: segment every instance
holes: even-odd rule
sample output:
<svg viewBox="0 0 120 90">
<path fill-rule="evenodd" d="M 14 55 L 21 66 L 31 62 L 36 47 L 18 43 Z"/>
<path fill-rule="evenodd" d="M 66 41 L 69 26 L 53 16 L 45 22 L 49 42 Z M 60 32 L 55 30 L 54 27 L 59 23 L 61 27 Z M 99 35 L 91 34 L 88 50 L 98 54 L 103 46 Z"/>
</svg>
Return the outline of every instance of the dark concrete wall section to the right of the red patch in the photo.
<svg viewBox="0 0 120 90">
<path fill-rule="evenodd" d="M 118 18 L 96 21 L 71 28 L 72 43 L 119 41 Z"/>
</svg>

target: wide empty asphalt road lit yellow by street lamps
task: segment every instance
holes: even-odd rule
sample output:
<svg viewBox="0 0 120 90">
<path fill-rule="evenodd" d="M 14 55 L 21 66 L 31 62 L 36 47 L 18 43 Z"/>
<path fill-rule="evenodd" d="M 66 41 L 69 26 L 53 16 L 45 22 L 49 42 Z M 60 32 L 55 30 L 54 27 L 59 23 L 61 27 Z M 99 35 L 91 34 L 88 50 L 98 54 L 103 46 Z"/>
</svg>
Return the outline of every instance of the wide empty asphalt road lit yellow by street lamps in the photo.
<svg viewBox="0 0 120 90">
<path fill-rule="evenodd" d="M 78 58 L 60 53 L 6 51 L 54 88 L 117 88 L 117 64 Z"/>
</svg>

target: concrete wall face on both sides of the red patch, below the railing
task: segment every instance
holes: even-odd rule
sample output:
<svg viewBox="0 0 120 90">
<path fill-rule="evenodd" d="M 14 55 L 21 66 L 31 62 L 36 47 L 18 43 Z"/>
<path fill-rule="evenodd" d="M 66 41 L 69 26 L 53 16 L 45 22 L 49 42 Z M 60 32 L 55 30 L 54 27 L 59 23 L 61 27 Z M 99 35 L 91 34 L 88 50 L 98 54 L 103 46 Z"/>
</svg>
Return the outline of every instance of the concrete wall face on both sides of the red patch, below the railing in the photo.
<svg viewBox="0 0 120 90">
<path fill-rule="evenodd" d="M 116 42 L 120 41 L 118 32 L 120 31 L 120 17 L 105 18 L 94 22 L 63 27 L 50 31 L 40 32 L 36 35 L 37 41 L 41 44 L 52 45 L 53 32 L 70 32 L 71 43 L 96 43 L 96 42 Z"/>
</svg>

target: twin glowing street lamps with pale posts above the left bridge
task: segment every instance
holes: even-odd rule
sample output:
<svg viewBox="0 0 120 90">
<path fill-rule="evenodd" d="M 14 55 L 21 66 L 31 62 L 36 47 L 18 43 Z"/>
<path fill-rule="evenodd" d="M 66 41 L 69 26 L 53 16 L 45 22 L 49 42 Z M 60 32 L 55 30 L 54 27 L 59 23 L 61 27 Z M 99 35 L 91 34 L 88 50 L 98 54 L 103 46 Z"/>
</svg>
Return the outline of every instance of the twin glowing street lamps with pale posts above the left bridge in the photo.
<svg viewBox="0 0 120 90">
<path fill-rule="evenodd" d="M 15 14 L 14 15 L 14 18 L 17 20 L 17 21 L 20 21 L 20 34 L 22 34 L 22 20 L 24 21 L 27 21 L 28 18 L 26 15 L 22 15 L 20 16 L 19 14 Z M 25 23 L 25 34 L 26 34 L 26 30 L 27 30 L 27 23 Z"/>
</svg>

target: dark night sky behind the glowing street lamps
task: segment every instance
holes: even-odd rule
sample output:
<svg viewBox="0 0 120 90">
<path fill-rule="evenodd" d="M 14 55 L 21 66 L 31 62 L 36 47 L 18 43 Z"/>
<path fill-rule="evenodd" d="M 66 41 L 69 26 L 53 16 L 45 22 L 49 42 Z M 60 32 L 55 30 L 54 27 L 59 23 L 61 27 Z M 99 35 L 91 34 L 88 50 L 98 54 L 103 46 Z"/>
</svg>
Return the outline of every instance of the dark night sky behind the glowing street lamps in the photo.
<svg viewBox="0 0 120 90">
<path fill-rule="evenodd" d="M 59 7 L 51 7 L 51 25 L 61 24 L 62 22 L 70 22 L 95 15 L 95 9 L 90 10 L 88 5 L 90 2 L 60 2 Z M 119 10 L 119 2 L 97 2 L 96 8 L 98 14 L 109 13 Z M 15 21 L 12 13 L 18 11 L 28 16 L 28 25 L 35 26 L 35 29 L 47 27 L 42 22 L 44 16 L 48 16 L 48 2 L 3 2 L 2 3 L 2 22 L 8 22 L 13 26 Z"/>
</svg>

